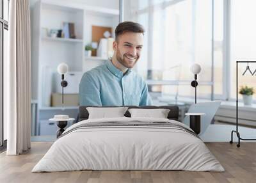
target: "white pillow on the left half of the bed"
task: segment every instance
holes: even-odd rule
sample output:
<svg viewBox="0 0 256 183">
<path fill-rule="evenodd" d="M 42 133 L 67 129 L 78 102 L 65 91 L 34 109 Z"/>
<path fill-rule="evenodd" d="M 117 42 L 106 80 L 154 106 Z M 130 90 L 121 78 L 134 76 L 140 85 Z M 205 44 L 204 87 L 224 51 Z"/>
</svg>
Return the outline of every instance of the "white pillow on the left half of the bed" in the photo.
<svg viewBox="0 0 256 183">
<path fill-rule="evenodd" d="M 125 117 L 124 114 L 128 107 L 86 107 L 89 113 L 89 119 L 95 118 L 120 118 Z"/>
</svg>

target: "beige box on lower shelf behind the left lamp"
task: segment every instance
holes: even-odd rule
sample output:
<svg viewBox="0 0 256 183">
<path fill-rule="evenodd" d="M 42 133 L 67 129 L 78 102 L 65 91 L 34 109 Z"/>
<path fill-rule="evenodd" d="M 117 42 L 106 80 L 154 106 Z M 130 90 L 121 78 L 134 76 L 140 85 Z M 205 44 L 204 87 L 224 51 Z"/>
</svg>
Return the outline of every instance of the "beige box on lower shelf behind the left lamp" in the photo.
<svg viewBox="0 0 256 183">
<path fill-rule="evenodd" d="M 78 93 L 64 94 L 64 104 L 63 106 L 79 106 L 79 97 Z M 51 97 L 51 106 L 62 106 L 62 94 L 61 93 L 52 93 Z"/>
</svg>

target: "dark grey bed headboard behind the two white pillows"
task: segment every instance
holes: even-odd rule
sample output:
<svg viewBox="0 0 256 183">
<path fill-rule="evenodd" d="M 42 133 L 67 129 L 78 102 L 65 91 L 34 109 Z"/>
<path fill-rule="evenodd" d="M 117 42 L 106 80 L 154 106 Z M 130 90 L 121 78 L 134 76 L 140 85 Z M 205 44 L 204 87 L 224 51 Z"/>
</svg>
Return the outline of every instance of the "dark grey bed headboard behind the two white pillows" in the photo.
<svg viewBox="0 0 256 183">
<path fill-rule="evenodd" d="M 86 110 L 86 107 L 118 107 L 118 106 L 79 106 L 79 115 L 78 115 L 78 122 L 82 120 L 87 120 L 89 117 L 89 113 Z M 179 107 L 178 106 L 125 106 L 131 108 L 141 108 L 141 109 L 170 109 L 168 113 L 169 120 L 178 120 L 179 118 Z M 129 111 L 126 111 L 124 114 L 126 117 L 131 117 Z"/>
</svg>

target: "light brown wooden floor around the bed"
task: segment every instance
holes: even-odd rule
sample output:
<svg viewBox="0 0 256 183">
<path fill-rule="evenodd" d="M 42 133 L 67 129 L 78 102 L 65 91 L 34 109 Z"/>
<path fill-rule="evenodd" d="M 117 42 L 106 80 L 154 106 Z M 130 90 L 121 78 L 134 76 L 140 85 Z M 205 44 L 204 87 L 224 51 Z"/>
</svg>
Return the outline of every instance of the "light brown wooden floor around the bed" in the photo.
<svg viewBox="0 0 256 183">
<path fill-rule="evenodd" d="M 17 156 L 0 154 L 0 182 L 256 182 L 256 143 L 241 147 L 229 143 L 206 143 L 225 172 L 195 171 L 65 171 L 31 173 L 52 143 L 32 143 L 31 150 Z"/>
</svg>

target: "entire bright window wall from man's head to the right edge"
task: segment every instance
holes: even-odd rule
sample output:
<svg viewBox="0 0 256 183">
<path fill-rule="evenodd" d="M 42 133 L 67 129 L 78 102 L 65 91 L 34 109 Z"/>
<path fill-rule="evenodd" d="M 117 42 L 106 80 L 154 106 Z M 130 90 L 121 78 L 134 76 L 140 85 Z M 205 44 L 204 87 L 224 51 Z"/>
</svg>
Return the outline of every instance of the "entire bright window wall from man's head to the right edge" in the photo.
<svg viewBox="0 0 256 183">
<path fill-rule="evenodd" d="M 193 97 L 189 67 L 196 62 L 202 66 L 199 98 L 214 93 L 214 99 L 235 100 L 236 61 L 256 60 L 256 1 L 129 0 L 125 5 L 124 19 L 147 30 L 137 70 L 150 80 L 152 92 Z M 239 65 L 239 76 L 246 66 Z M 250 67 L 253 72 L 256 64 Z M 255 76 L 239 77 L 239 86 L 244 84 L 256 88 Z"/>
</svg>

